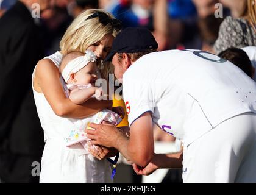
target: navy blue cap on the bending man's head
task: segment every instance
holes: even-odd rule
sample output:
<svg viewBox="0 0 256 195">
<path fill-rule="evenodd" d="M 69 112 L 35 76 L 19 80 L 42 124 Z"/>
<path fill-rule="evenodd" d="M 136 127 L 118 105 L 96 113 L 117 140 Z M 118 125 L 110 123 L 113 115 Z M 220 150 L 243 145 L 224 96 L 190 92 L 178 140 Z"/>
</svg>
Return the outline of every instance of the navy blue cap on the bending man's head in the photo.
<svg viewBox="0 0 256 195">
<path fill-rule="evenodd" d="M 104 62 L 111 61 L 116 53 L 136 53 L 157 49 L 158 44 L 152 33 L 142 27 L 127 27 L 116 35 L 112 49 Z"/>
</svg>

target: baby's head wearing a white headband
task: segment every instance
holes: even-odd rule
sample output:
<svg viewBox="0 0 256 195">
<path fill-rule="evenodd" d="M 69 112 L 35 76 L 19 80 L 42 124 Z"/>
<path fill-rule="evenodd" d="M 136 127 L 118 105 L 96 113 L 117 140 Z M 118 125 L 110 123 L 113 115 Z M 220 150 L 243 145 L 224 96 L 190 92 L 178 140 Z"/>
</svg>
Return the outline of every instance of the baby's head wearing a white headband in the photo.
<svg viewBox="0 0 256 195">
<path fill-rule="evenodd" d="M 70 52 L 63 57 L 60 64 L 60 72 L 68 84 L 94 84 L 97 79 L 96 71 L 96 55 L 91 51 L 86 51 L 86 54 Z"/>
</svg>

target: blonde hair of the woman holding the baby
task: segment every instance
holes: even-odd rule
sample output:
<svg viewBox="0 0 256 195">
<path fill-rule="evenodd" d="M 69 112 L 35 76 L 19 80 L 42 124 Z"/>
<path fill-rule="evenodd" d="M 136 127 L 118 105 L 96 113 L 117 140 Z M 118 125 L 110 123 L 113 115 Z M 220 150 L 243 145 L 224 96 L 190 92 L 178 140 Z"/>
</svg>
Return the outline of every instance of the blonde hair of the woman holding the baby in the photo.
<svg viewBox="0 0 256 195">
<path fill-rule="evenodd" d="M 112 24 L 104 25 L 99 22 L 98 17 L 87 19 L 95 12 L 104 12 L 111 19 L 115 19 L 112 14 L 102 9 L 88 9 L 80 13 L 68 27 L 60 41 L 60 51 L 63 55 L 73 51 L 85 52 L 89 46 L 101 40 L 106 34 L 112 34 L 113 37 L 116 37 L 118 31 L 112 27 Z M 101 63 L 97 63 L 101 76 L 108 79 L 108 74 L 113 73 L 112 65 L 105 63 L 103 66 Z"/>
</svg>

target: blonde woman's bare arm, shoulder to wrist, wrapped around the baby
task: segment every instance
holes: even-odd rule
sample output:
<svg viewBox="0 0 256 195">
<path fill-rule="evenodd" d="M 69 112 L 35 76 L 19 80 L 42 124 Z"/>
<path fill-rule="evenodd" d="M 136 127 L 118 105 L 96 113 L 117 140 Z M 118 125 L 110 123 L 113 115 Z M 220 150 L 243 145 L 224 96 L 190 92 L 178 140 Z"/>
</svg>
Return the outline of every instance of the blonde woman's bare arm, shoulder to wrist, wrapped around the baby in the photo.
<svg viewBox="0 0 256 195">
<path fill-rule="evenodd" d="M 67 118 L 83 118 L 93 115 L 103 108 L 112 108 L 112 101 L 97 101 L 93 98 L 84 104 L 74 104 L 69 98 L 66 98 L 59 78 L 59 69 L 51 60 L 43 59 L 38 62 L 34 85 L 40 87 L 56 115 Z"/>
</svg>

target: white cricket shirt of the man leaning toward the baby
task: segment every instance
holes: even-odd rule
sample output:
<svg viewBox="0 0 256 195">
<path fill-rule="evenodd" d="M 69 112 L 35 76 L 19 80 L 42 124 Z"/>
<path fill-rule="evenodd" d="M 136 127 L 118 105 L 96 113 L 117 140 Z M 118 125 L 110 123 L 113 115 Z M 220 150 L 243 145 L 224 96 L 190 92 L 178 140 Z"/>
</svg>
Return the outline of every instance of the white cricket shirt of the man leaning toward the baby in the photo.
<svg viewBox="0 0 256 195">
<path fill-rule="evenodd" d="M 213 54 L 203 54 L 219 60 Z M 129 124 L 144 112 L 184 143 L 245 112 L 256 113 L 256 86 L 240 68 L 191 51 L 144 55 L 123 76 Z"/>
</svg>

